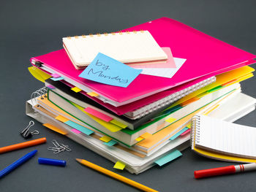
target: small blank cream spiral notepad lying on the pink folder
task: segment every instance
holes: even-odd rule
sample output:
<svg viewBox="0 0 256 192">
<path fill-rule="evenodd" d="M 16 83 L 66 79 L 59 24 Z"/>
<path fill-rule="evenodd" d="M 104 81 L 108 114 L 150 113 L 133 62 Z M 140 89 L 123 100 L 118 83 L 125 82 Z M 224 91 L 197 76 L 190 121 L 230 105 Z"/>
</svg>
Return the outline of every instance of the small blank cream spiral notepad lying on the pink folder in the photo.
<svg viewBox="0 0 256 192">
<path fill-rule="evenodd" d="M 166 60 L 167 55 L 148 31 L 64 37 L 64 48 L 78 66 L 87 66 L 98 53 L 122 63 Z"/>
</svg>

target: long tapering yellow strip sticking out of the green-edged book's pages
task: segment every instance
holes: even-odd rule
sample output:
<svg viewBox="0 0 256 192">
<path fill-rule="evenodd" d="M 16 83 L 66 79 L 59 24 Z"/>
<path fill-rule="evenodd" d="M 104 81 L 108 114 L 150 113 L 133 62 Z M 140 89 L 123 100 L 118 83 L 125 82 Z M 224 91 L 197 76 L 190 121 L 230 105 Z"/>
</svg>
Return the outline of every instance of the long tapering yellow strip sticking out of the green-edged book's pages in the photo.
<svg viewBox="0 0 256 192">
<path fill-rule="evenodd" d="M 117 132 L 120 131 L 121 127 L 114 125 L 113 123 L 109 123 L 106 122 L 105 120 L 101 120 L 100 118 L 95 117 L 94 115 L 91 115 L 89 112 L 86 112 L 80 105 L 75 104 L 74 102 L 70 101 L 75 107 L 77 107 L 79 110 L 81 110 L 82 112 L 86 113 L 86 115 L 88 115 L 90 118 L 92 118 L 93 120 L 95 120 L 97 123 L 99 123 L 100 125 L 104 126 L 105 128 L 108 128 L 109 131 L 111 132 Z"/>
</svg>

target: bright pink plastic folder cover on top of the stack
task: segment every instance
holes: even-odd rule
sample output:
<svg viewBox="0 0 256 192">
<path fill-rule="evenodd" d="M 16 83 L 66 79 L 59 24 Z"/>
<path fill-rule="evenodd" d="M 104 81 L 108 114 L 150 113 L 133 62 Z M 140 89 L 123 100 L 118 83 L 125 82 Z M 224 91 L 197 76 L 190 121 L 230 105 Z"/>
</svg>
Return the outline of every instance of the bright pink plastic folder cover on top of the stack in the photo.
<svg viewBox="0 0 256 192">
<path fill-rule="evenodd" d="M 170 79 L 140 74 L 127 88 L 121 88 L 78 77 L 82 71 L 75 69 L 64 49 L 31 59 L 41 61 L 57 73 L 64 74 L 102 96 L 121 103 L 151 92 L 157 93 L 173 88 L 207 74 L 214 76 L 252 64 L 246 61 L 256 58 L 256 55 L 228 45 L 170 18 L 159 18 L 124 31 L 127 30 L 148 30 L 160 47 L 170 47 L 173 57 L 186 58 L 187 61 Z"/>
</svg>

